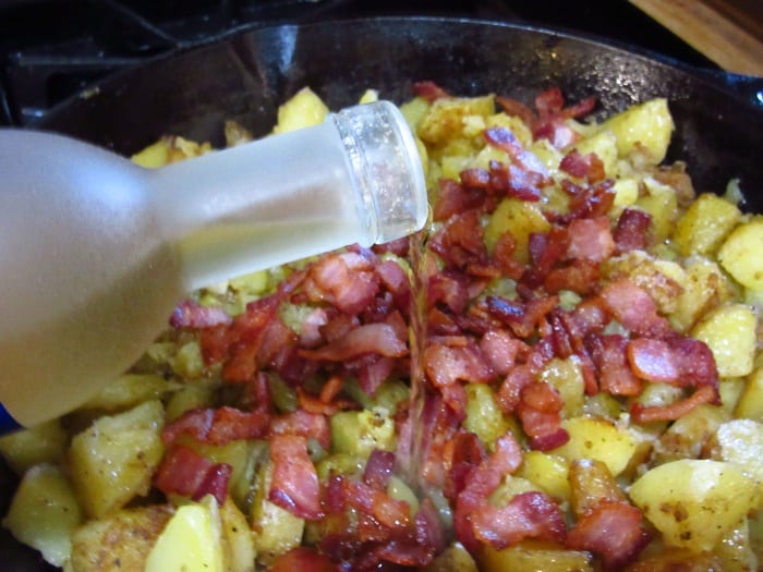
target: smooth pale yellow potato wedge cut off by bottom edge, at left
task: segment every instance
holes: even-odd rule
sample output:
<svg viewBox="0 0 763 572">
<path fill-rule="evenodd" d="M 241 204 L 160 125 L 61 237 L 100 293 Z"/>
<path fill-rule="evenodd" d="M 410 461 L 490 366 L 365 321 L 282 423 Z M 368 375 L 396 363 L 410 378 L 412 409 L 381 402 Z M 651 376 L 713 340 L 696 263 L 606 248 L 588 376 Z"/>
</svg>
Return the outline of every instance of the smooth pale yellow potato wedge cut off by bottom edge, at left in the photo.
<svg viewBox="0 0 763 572">
<path fill-rule="evenodd" d="M 148 553 L 145 572 L 223 572 L 221 526 L 210 496 L 180 507 Z"/>
</svg>

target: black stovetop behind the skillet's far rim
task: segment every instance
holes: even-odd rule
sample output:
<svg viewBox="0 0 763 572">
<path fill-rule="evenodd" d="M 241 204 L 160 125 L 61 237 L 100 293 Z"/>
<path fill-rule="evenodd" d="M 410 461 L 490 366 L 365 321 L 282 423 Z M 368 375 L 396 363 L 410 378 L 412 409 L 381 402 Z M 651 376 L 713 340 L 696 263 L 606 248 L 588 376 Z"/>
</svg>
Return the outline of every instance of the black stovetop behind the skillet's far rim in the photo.
<svg viewBox="0 0 763 572">
<path fill-rule="evenodd" d="M 392 14 L 555 27 L 715 68 L 625 1 L 4 0 L 0 2 L 0 125 L 28 124 L 110 73 L 247 26 Z"/>
</svg>

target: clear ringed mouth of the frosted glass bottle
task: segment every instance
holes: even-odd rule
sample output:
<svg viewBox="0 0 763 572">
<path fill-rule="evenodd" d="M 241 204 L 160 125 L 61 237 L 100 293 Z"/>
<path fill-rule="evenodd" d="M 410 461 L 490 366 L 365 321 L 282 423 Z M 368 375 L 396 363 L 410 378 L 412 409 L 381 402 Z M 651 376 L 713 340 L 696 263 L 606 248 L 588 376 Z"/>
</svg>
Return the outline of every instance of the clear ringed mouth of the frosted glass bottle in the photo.
<svg viewBox="0 0 763 572">
<path fill-rule="evenodd" d="M 331 117 L 366 212 L 368 244 L 390 242 L 424 228 L 428 214 L 424 169 L 400 110 L 389 101 L 374 101 Z"/>
</svg>

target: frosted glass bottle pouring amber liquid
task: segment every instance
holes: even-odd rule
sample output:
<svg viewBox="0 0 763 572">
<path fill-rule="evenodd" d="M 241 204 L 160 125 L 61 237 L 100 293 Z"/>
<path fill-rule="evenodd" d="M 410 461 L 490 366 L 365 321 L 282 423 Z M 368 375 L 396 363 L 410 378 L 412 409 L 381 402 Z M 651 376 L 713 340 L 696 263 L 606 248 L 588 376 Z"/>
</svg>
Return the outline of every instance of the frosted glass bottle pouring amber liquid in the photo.
<svg viewBox="0 0 763 572">
<path fill-rule="evenodd" d="M 0 130 L 0 433 L 77 406 L 199 287 L 423 227 L 413 137 L 379 101 L 157 170 Z"/>
</svg>

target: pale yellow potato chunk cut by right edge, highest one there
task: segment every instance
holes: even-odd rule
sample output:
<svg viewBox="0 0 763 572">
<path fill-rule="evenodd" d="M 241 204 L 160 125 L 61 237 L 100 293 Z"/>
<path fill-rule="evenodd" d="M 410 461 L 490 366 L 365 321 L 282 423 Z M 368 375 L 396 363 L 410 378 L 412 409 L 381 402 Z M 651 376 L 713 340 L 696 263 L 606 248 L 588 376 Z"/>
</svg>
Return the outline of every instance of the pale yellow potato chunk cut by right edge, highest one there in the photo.
<svg viewBox="0 0 763 572">
<path fill-rule="evenodd" d="M 718 261 L 734 279 L 751 290 L 763 290 L 763 217 L 731 231 L 718 250 Z"/>
</svg>

